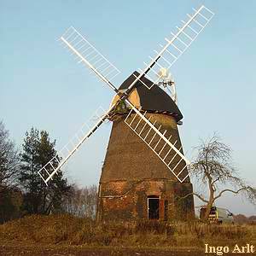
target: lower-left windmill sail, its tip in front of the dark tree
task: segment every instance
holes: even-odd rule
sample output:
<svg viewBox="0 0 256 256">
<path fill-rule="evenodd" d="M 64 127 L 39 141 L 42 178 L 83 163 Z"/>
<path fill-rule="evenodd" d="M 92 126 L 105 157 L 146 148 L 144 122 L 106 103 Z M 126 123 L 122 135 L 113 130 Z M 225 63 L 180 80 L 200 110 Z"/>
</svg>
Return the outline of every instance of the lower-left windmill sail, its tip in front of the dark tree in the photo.
<svg viewBox="0 0 256 256">
<path fill-rule="evenodd" d="M 105 113 L 99 113 L 97 110 L 93 115 L 93 118 L 97 119 L 95 125 L 87 125 L 85 123 L 79 131 L 73 136 L 73 138 L 66 144 L 60 151 L 57 152 L 55 157 L 53 157 L 49 162 L 38 171 L 38 174 L 44 180 L 44 183 L 48 183 L 49 180 L 61 169 L 67 160 L 79 149 L 79 147 L 84 143 L 84 141 L 90 137 L 105 119 L 108 119 L 108 113 L 113 109 L 113 107 L 109 108 Z"/>
</svg>

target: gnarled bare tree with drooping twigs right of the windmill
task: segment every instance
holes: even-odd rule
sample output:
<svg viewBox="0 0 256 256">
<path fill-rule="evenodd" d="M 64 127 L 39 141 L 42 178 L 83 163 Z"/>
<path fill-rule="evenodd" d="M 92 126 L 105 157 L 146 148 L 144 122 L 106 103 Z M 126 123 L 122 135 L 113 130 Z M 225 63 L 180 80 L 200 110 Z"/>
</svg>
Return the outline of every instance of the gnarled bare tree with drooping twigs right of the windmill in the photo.
<svg viewBox="0 0 256 256">
<path fill-rule="evenodd" d="M 196 148 L 197 157 L 190 173 L 199 183 L 207 188 L 208 193 L 190 193 L 206 203 L 204 219 L 209 217 L 212 205 L 218 198 L 227 192 L 243 194 L 248 201 L 256 204 L 256 189 L 238 176 L 231 158 L 231 148 L 221 142 L 218 136 L 213 135 L 208 141 L 202 141 Z M 189 196 L 185 195 L 183 198 Z"/>
</svg>

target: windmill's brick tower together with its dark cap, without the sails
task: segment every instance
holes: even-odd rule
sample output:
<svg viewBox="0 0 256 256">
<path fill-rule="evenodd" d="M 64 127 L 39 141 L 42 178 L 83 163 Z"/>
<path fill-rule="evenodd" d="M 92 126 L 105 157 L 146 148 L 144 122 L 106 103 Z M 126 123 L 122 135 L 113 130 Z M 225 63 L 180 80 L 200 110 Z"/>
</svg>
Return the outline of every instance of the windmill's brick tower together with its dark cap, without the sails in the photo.
<svg viewBox="0 0 256 256">
<path fill-rule="evenodd" d="M 138 73 L 131 74 L 121 84 L 119 90 L 127 89 L 135 79 L 134 74 L 138 75 Z M 145 78 L 143 82 L 152 83 Z M 113 98 L 113 103 L 117 101 L 117 97 Z M 148 90 L 138 81 L 128 99 L 142 113 L 147 111 L 148 116 L 166 130 L 166 135 L 168 134 L 166 137 L 172 135 L 170 141 L 175 143 L 177 148 L 181 148 L 183 153 L 177 130 L 177 122 L 183 118 L 183 115 L 171 96 L 157 85 Z M 121 102 L 113 111 L 111 118 L 113 127 L 99 183 L 97 220 L 172 220 L 193 217 L 195 214 L 193 196 L 180 200 L 183 195 L 193 192 L 189 176 L 186 177 L 188 175 L 186 166 L 182 174 L 186 178 L 180 183 L 164 162 L 154 154 L 152 148 L 149 148 L 125 123 L 129 112 L 126 110 L 125 103 Z M 134 119 L 134 117 L 135 113 L 131 113 L 129 118 Z M 151 136 L 149 132 L 148 141 L 151 141 L 153 136 L 154 133 Z M 156 143 L 157 140 L 153 138 L 151 147 L 155 147 Z M 162 145 L 157 147 L 163 148 Z M 174 155 L 175 152 L 167 154 L 165 161 L 170 161 Z M 172 167 L 176 165 L 177 161 L 172 161 Z M 178 165 L 176 173 L 182 168 L 182 165 Z"/>
</svg>

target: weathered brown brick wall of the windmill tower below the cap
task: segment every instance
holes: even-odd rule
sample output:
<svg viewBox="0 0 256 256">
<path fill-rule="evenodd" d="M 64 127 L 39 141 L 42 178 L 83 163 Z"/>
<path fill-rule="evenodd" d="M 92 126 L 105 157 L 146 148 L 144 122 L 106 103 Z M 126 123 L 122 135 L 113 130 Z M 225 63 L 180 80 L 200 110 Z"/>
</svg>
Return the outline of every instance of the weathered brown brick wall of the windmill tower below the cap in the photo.
<svg viewBox="0 0 256 256">
<path fill-rule="evenodd" d="M 177 145 L 181 145 L 176 120 L 166 114 L 151 115 L 172 134 Z M 97 219 L 148 219 L 150 196 L 159 197 L 160 220 L 194 217 L 193 197 L 180 200 L 181 196 L 193 191 L 189 177 L 179 183 L 124 120 L 125 117 L 119 116 L 113 121 L 100 179 Z M 187 170 L 184 172 L 186 174 Z"/>
</svg>

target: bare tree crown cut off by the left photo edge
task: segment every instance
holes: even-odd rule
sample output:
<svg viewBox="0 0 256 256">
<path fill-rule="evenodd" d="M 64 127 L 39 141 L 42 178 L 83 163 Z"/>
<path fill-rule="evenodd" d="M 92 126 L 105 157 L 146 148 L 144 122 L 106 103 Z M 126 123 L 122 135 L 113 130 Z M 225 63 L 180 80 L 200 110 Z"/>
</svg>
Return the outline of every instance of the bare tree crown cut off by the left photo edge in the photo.
<svg viewBox="0 0 256 256">
<path fill-rule="evenodd" d="M 9 139 L 9 131 L 5 129 L 3 121 L 0 121 L 0 193 L 15 183 L 19 163 L 15 143 Z"/>
</svg>

